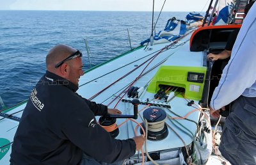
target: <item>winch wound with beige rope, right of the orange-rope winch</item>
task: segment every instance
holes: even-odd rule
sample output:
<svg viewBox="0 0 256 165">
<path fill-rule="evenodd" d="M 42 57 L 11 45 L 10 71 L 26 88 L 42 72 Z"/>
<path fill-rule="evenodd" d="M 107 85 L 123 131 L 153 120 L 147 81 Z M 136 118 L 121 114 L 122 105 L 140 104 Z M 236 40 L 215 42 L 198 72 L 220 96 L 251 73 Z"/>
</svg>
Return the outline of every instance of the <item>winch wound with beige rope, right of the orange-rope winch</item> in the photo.
<svg viewBox="0 0 256 165">
<path fill-rule="evenodd" d="M 150 107 L 145 109 L 143 112 L 143 118 L 144 120 L 147 120 L 148 123 L 148 140 L 160 141 L 168 136 L 167 125 L 164 122 L 166 120 L 166 116 L 166 112 L 159 107 Z M 142 127 L 145 129 L 144 124 L 142 124 Z M 141 129 L 140 132 L 142 134 Z"/>
</svg>

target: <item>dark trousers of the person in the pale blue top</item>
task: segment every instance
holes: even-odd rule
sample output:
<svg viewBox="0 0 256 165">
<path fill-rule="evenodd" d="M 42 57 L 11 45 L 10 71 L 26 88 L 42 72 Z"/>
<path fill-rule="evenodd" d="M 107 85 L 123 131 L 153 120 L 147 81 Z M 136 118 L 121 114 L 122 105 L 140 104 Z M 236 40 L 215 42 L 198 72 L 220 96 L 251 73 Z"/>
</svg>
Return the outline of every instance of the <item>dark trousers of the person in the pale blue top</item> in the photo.
<svg viewBox="0 0 256 165">
<path fill-rule="evenodd" d="M 231 107 L 220 152 L 231 164 L 256 164 L 256 98 L 239 97 Z"/>
</svg>

